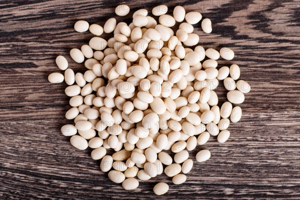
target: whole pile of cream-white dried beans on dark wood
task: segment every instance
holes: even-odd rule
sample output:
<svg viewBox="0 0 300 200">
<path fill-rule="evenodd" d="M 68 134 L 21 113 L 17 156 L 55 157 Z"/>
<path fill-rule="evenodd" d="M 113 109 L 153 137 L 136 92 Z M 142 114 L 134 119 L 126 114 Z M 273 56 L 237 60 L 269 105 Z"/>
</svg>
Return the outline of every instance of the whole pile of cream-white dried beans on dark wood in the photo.
<svg viewBox="0 0 300 200">
<path fill-rule="evenodd" d="M 192 33 L 192 25 L 200 22 L 199 12 L 185 13 L 182 6 L 174 8 L 173 16 L 166 12 L 166 5 L 152 9 L 157 22 L 146 9 L 139 9 L 129 25 L 115 18 L 103 27 L 77 21 L 77 32 L 95 35 L 88 45 L 70 50 L 71 58 L 84 62 L 87 70 L 74 73 L 66 58 L 58 55 L 55 61 L 64 75 L 48 76 L 52 83 L 64 80 L 69 85 L 65 94 L 71 97 L 72 108 L 65 117 L 75 125 L 63 125 L 62 134 L 71 136 L 70 143 L 78 149 L 93 148 L 92 159 L 101 159 L 100 169 L 109 171 L 108 178 L 124 189 L 136 188 L 137 178 L 148 180 L 162 172 L 174 184 L 183 183 L 193 165 L 188 151 L 205 144 L 210 135 L 225 142 L 229 122 L 241 118 L 241 108 L 232 104 L 242 103 L 250 90 L 239 79 L 237 64 L 217 69 L 220 57 L 233 59 L 230 48 L 205 50 L 197 45 L 199 36 Z M 129 7 L 118 5 L 115 13 L 125 16 Z M 174 31 L 170 27 L 176 22 L 179 29 Z M 202 19 L 201 28 L 210 33 L 210 19 Z M 106 41 L 99 37 L 103 32 L 113 32 L 113 37 Z M 228 90 L 228 101 L 220 107 L 214 92 L 219 81 Z M 108 148 L 114 150 L 112 155 L 106 153 Z M 173 158 L 162 151 L 169 149 Z M 210 151 L 203 149 L 195 158 L 202 162 L 209 157 Z M 160 195 L 168 188 L 159 182 L 153 191 Z"/>
</svg>

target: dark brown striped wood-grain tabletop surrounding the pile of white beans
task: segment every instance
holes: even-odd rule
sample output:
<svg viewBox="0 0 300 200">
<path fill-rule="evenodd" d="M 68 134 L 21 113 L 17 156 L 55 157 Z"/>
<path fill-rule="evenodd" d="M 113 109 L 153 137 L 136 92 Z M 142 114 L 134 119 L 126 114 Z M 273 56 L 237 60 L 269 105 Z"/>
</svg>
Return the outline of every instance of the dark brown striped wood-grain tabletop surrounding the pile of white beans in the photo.
<svg viewBox="0 0 300 200">
<path fill-rule="evenodd" d="M 77 150 L 60 133 L 68 123 L 65 84 L 50 84 L 58 71 L 54 59 L 87 43 L 77 33 L 78 19 L 103 25 L 114 17 L 115 0 L 0 1 L 0 199 L 299 199 L 300 82 L 299 0 L 145 0 L 127 2 L 131 10 L 151 10 L 158 3 L 172 10 L 183 5 L 212 20 L 213 32 L 195 32 L 205 48 L 235 51 L 242 79 L 252 87 L 241 104 L 243 116 L 231 124 L 229 140 L 215 138 L 211 158 L 194 162 L 187 181 L 174 185 L 158 176 L 140 181 L 133 191 L 108 180 L 90 150 Z M 130 12 L 130 16 L 132 12 Z M 117 20 L 120 21 L 120 17 Z M 124 17 L 129 22 L 129 16 Z M 69 62 L 75 71 L 82 64 Z M 224 101 L 218 87 L 220 102 Z M 166 181 L 166 195 L 152 187 Z"/>
</svg>

